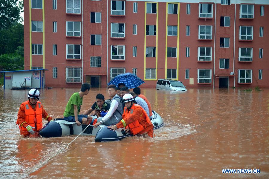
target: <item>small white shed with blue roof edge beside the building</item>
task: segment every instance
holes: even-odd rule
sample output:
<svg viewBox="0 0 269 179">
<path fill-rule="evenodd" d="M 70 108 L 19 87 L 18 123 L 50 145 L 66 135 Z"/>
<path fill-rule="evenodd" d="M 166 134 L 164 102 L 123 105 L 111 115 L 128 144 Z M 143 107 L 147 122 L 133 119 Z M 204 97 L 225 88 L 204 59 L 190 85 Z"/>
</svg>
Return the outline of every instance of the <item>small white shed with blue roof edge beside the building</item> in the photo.
<svg viewBox="0 0 269 179">
<path fill-rule="evenodd" d="M 19 70 L 4 71 L 4 89 L 21 90 L 45 87 L 45 71 L 38 70 Z"/>
</svg>

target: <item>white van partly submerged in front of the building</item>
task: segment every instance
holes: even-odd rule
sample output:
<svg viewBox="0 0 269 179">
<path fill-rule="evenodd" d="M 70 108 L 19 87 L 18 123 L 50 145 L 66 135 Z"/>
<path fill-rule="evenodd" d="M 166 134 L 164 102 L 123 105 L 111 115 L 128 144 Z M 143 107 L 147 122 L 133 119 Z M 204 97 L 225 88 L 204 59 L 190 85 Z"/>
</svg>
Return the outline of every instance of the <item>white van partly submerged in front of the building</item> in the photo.
<svg viewBox="0 0 269 179">
<path fill-rule="evenodd" d="M 181 81 L 168 79 L 158 79 L 156 89 L 170 91 L 187 91 L 186 86 L 184 86 Z"/>
</svg>

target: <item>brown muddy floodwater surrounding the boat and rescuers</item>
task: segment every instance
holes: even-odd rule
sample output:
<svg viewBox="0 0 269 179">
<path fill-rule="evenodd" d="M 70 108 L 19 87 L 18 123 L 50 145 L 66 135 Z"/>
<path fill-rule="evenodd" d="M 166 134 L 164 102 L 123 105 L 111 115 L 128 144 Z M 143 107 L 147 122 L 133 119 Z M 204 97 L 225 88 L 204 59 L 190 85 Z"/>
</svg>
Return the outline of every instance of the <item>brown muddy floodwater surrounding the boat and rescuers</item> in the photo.
<svg viewBox="0 0 269 179">
<path fill-rule="evenodd" d="M 62 118 L 69 97 L 80 89 L 41 90 L 40 101 Z M 269 89 L 142 89 L 164 121 L 155 138 L 117 142 L 77 138 L 28 178 L 269 178 Z M 81 112 L 97 93 L 83 98 Z M 0 91 L 0 178 L 20 178 L 76 136 L 22 138 L 16 126 L 25 90 Z M 43 121 L 45 124 L 47 121 Z M 221 169 L 261 169 L 260 174 L 222 174 Z"/>
</svg>

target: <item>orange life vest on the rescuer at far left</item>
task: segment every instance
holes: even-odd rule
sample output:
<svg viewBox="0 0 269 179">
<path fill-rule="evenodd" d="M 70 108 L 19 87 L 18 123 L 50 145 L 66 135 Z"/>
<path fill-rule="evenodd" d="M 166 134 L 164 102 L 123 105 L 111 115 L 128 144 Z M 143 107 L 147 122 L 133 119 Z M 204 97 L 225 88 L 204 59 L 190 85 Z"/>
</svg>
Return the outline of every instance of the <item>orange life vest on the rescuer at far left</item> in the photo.
<svg viewBox="0 0 269 179">
<path fill-rule="evenodd" d="M 35 127 L 39 131 L 42 129 L 42 108 L 41 108 L 41 102 L 37 101 L 36 103 L 36 111 L 31 107 L 29 101 L 25 101 L 22 103 L 25 107 L 25 117 L 24 120 L 25 122 L 32 126 Z M 27 129 L 23 126 L 19 126 L 20 130 L 22 131 L 27 131 Z"/>
</svg>

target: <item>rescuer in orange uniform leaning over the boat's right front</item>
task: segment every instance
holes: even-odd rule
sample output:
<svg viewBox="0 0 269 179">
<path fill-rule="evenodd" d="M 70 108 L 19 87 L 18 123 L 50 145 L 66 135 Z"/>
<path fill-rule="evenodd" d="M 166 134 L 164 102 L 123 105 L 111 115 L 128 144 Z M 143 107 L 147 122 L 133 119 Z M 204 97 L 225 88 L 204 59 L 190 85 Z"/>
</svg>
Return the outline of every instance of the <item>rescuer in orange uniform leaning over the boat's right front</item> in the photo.
<svg viewBox="0 0 269 179">
<path fill-rule="evenodd" d="M 125 104 L 122 120 L 118 124 L 107 128 L 114 131 L 126 127 L 125 131 L 130 130 L 132 135 L 148 133 L 149 137 L 153 137 L 153 125 L 149 116 L 141 106 L 134 104 L 134 101 L 131 94 L 125 94 L 122 99 Z"/>
</svg>

